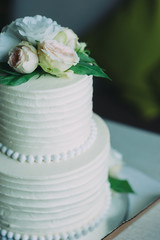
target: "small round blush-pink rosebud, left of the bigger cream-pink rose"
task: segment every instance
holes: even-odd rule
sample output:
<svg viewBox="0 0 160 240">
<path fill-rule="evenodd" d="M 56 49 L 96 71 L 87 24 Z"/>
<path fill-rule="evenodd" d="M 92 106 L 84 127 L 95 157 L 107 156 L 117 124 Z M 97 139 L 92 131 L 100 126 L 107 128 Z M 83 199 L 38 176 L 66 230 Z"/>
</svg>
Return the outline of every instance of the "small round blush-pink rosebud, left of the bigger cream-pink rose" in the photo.
<svg viewBox="0 0 160 240">
<path fill-rule="evenodd" d="M 20 73 L 33 72 L 38 66 L 36 48 L 28 42 L 21 42 L 10 52 L 8 64 Z"/>
</svg>

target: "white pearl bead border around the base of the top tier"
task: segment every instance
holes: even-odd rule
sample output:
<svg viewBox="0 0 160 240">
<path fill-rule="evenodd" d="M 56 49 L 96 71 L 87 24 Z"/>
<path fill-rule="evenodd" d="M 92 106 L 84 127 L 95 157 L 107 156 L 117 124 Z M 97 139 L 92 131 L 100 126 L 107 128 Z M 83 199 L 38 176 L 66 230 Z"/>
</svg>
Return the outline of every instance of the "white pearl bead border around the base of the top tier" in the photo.
<svg viewBox="0 0 160 240">
<path fill-rule="evenodd" d="M 86 152 L 87 149 L 90 148 L 90 146 L 94 143 L 95 139 L 97 136 L 97 126 L 94 120 L 91 122 L 91 134 L 88 138 L 88 140 L 80 145 L 79 147 L 69 150 L 68 152 L 62 152 L 59 154 L 51 154 L 51 155 L 25 155 L 25 154 L 20 154 L 19 152 L 16 152 L 12 149 L 7 148 L 5 145 L 0 143 L 0 152 L 2 154 L 5 154 L 6 156 L 17 160 L 21 163 L 50 163 L 50 162 L 55 162 L 58 163 L 60 161 L 66 161 L 68 159 L 74 158 L 76 156 L 79 156 L 80 154 Z"/>
</svg>

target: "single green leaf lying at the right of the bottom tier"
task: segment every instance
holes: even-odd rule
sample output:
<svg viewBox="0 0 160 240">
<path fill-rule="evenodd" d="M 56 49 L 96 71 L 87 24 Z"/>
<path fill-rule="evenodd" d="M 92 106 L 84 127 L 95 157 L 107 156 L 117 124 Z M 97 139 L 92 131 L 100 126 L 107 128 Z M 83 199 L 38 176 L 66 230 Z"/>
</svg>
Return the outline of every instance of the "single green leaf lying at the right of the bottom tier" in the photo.
<svg viewBox="0 0 160 240">
<path fill-rule="evenodd" d="M 119 193 L 134 193 L 132 187 L 127 180 L 121 180 L 118 178 L 109 177 L 108 178 L 111 189 Z"/>
</svg>

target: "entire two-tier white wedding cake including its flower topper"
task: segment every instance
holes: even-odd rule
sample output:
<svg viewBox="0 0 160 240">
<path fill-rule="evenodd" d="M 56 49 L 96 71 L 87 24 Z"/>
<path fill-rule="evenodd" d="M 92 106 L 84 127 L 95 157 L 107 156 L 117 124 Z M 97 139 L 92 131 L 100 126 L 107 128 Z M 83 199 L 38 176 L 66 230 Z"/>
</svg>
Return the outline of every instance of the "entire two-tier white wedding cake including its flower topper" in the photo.
<svg viewBox="0 0 160 240">
<path fill-rule="evenodd" d="M 2 30 L 1 237 L 91 240 L 107 216 L 110 136 L 92 112 L 92 73 L 105 73 L 84 49 L 41 16 Z"/>
</svg>

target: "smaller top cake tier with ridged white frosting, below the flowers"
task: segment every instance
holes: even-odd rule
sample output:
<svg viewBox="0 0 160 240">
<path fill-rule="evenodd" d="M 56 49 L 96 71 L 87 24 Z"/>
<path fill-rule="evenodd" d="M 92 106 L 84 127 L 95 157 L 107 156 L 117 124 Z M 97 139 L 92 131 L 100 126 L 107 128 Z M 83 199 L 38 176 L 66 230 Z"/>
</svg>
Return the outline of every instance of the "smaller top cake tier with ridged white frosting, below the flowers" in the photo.
<svg viewBox="0 0 160 240">
<path fill-rule="evenodd" d="M 8 149 L 26 155 L 74 149 L 91 131 L 92 76 L 0 85 L 0 116 L 0 142 Z"/>
</svg>

